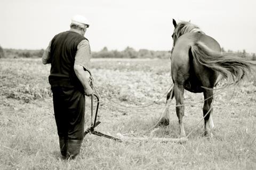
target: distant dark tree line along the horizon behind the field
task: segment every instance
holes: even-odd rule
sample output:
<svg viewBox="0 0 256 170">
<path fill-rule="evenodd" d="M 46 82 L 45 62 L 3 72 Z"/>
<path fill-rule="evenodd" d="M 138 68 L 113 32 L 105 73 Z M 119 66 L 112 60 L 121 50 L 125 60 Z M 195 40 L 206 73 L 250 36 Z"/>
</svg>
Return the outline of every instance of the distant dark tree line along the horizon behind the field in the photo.
<svg viewBox="0 0 256 170">
<path fill-rule="evenodd" d="M 222 47 L 223 52 L 233 52 L 231 50 L 226 51 Z M 44 50 L 16 50 L 12 48 L 2 48 L 0 46 L 0 58 L 41 58 Z M 245 50 L 237 51 L 236 53 L 242 54 L 245 58 L 250 60 L 256 60 L 255 53 L 249 54 Z M 123 51 L 108 50 L 107 47 L 103 47 L 98 52 L 92 52 L 92 58 L 149 58 L 149 59 L 169 59 L 171 51 L 153 51 L 147 49 L 140 49 L 138 51 L 134 48 L 127 46 Z"/>
</svg>

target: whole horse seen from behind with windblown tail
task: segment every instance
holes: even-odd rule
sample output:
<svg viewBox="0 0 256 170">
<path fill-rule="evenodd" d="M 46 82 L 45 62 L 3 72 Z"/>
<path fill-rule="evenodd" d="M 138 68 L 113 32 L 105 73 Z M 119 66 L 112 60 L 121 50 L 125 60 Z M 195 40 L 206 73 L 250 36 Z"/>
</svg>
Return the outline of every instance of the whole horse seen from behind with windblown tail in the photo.
<svg viewBox="0 0 256 170">
<path fill-rule="evenodd" d="M 179 135 L 185 137 L 182 120 L 185 110 L 184 90 L 203 93 L 204 135 L 212 137 L 210 130 L 214 126 L 211 119 L 214 87 L 222 78 L 227 79 L 229 84 L 238 84 L 256 64 L 244 59 L 242 54 L 222 53 L 220 44 L 190 21 L 177 23 L 173 19 L 173 26 L 171 76 L 174 86 L 167 94 L 167 108 L 158 125 L 169 125 L 168 104 L 175 97 Z"/>
</svg>

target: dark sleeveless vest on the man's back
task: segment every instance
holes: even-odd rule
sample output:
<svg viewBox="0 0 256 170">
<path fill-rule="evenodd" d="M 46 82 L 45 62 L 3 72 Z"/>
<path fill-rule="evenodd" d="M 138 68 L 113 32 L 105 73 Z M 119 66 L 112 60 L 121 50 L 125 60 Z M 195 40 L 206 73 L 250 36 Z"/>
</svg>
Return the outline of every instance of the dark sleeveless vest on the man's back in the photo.
<svg viewBox="0 0 256 170">
<path fill-rule="evenodd" d="M 66 31 L 55 35 L 51 42 L 51 87 L 74 87 L 83 90 L 83 85 L 74 71 L 77 45 L 86 39 L 74 31 Z"/>
</svg>

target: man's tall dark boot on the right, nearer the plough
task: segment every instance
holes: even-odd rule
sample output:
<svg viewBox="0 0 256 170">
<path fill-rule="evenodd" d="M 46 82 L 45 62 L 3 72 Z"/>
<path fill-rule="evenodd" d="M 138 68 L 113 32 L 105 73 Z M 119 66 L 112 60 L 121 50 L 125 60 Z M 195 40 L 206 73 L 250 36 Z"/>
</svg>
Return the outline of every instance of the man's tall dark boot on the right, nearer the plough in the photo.
<svg viewBox="0 0 256 170">
<path fill-rule="evenodd" d="M 80 152 L 81 144 L 83 140 L 68 140 L 68 158 L 75 159 Z"/>
</svg>

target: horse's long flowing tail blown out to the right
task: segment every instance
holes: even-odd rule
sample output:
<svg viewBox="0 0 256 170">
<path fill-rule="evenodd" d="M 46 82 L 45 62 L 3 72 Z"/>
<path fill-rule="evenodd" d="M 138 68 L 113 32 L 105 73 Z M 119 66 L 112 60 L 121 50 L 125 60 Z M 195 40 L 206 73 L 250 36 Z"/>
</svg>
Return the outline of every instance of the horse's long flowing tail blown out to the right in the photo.
<svg viewBox="0 0 256 170">
<path fill-rule="evenodd" d="M 192 45 L 191 52 L 198 63 L 218 71 L 229 83 L 238 83 L 256 66 L 242 54 L 214 52 L 203 43 Z"/>
</svg>

